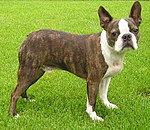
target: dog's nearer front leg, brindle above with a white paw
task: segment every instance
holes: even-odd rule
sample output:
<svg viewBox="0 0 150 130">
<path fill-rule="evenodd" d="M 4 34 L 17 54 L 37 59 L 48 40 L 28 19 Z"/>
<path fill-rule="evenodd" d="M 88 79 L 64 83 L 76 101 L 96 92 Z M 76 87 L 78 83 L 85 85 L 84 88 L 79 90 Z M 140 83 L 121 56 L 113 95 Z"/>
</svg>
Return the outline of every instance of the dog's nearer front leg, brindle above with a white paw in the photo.
<svg viewBox="0 0 150 130">
<path fill-rule="evenodd" d="M 92 118 L 92 120 L 104 121 L 101 117 L 96 115 L 94 111 L 96 105 L 96 98 L 98 93 L 98 83 L 88 83 L 87 84 L 87 108 L 86 112 Z"/>
</svg>

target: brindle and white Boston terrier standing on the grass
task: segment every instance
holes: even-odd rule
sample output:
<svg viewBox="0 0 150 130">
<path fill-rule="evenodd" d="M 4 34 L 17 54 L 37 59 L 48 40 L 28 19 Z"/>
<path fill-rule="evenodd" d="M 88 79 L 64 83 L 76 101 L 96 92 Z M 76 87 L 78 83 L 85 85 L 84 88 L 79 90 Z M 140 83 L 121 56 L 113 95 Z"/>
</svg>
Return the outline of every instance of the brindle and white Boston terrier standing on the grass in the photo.
<svg viewBox="0 0 150 130">
<path fill-rule="evenodd" d="M 128 18 L 113 20 L 100 6 L 98 16 L 103 31 L 95 34 L 78 35 L 56 30 L 30 33 L 19 49 L 18 82 L 11 95 L 9 113 L 18 117 L 18 98 L 27 99 L 27 89 L 45 71 L 61 69 L 87 81 L 86 112 L 92 120 L 104 121 L 95 112 L 98 91 L 107 108 L 118 108 L 108 101 L 108 86 L 111 77 L 123 69 L 125 53 L 138 49 L 141 9 L 140 2 L 135 1 Z"/>
</svg>

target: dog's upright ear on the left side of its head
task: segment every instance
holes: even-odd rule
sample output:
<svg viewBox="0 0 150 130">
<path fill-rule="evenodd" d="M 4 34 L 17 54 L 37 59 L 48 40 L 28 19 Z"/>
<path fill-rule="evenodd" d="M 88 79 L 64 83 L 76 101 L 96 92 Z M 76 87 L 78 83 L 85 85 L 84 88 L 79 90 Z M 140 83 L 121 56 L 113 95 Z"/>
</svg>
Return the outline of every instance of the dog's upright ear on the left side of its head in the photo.
<svg viewBox="0 0 150 130">
<path fill-rule="evenodd" d="M 107 30 L 108 24 L 112 21 L 113 17 L 102 6 L 98 9 L 98 15 L 100 19 L 100 26 Z"/>
</svg>

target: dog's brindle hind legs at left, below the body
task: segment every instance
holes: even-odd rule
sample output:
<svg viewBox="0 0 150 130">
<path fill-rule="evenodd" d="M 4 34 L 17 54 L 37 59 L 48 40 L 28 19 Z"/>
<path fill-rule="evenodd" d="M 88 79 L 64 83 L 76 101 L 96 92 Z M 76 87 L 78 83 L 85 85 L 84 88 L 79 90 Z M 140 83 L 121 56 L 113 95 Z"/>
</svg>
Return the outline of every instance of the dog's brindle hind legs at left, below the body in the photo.
<svg viewBox="0 0 150 130">
<path fill-rule="evenodd" d="M 23 98 L 27 98 L 26 91 L 27 89 L 34 84 L 42 75 L 44 74 L 44 71 L 41 70 L 40 67 L 35 66 L 19 66 L 18 71 L 18 83 L 14 90 L 14 92 L 11 95 L 10 100 L 10 114 L 13 116 L 16 116 L 16 104 L 18 101 L 18 98 L 22 96 Z"/>
</svg>

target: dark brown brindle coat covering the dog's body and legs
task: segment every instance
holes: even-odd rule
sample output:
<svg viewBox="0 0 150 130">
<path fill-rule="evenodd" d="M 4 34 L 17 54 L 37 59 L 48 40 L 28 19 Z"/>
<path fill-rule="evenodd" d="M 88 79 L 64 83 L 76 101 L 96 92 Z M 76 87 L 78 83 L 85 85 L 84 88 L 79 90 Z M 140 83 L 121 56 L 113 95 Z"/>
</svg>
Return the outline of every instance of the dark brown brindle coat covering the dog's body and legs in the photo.
<svg viewBox="0 0 150 130">
<path fill-rule="evenodd" d="M 62 69 L 86 79 L 89 103 L 95 106 L 100 81 L 108 68 L 101 52 L 100 34 L 76 35 L 55 30 L 29 34 L 19 49 L 18 83 L 11 96 L 10 113 L 16 115 L 19 96 L 27 98 L 27 89 L 46 69 Z"/>
</svg>

